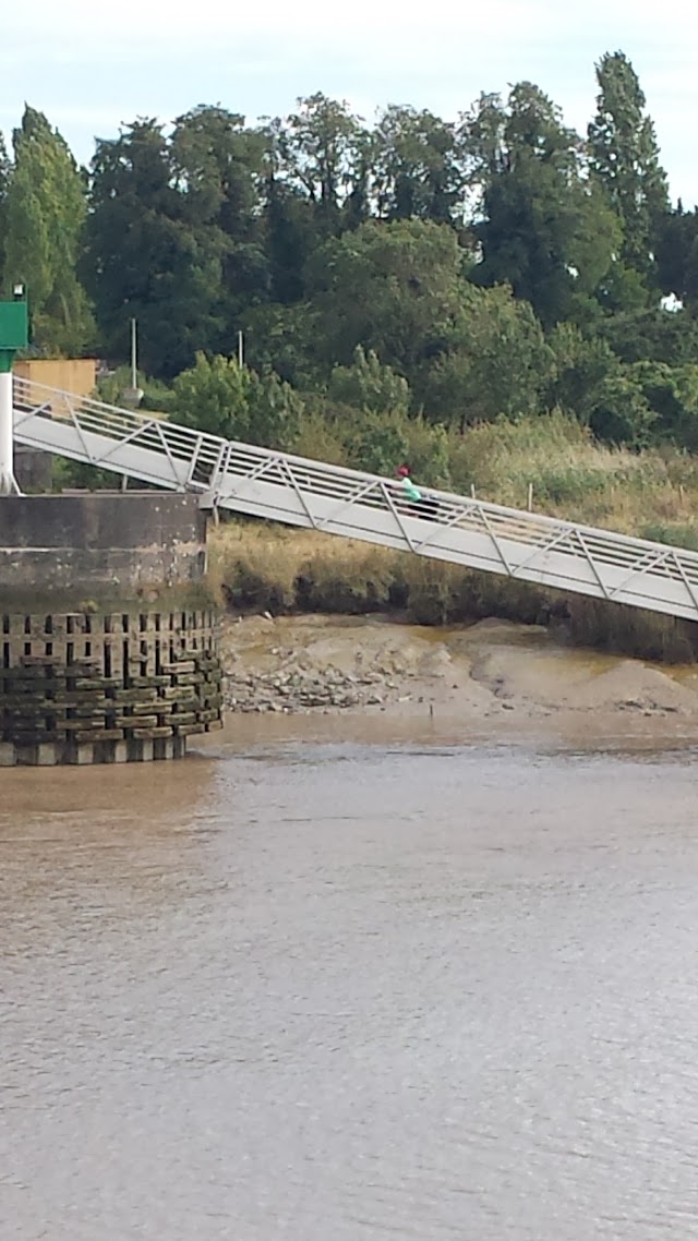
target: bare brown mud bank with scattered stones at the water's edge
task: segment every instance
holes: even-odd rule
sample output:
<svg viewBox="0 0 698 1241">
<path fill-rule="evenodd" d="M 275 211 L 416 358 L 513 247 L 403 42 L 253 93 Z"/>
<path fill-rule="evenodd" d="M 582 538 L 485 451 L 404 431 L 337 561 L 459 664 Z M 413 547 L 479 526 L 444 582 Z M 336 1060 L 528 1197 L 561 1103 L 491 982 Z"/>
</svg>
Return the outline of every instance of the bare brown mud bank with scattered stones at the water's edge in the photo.
<svg viewBox="0 0 698 1241">
<path fill-rule="evenodd" d="M 233 716 L 455 721 L 501 731 L 696 730 L 698 671 L 576 649 L 543 625 L 435 629 L 390 617 L 230 617 Z"/>
</svg>

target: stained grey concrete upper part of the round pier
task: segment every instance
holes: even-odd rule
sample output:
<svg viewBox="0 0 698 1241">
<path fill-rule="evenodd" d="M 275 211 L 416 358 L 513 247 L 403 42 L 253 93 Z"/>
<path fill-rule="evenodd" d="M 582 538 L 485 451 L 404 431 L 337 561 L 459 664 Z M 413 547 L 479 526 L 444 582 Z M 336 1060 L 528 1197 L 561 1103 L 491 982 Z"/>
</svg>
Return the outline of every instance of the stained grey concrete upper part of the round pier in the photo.
<svg viewBox="0 0 698 1241">
<path fill-rule="evenodd" d="M 206 572 L 206 519 L 194 495 L 153 491 L 0 498 L 0 608 L 70 593 L 150 598 L 196 587 Z"/>
</svg>

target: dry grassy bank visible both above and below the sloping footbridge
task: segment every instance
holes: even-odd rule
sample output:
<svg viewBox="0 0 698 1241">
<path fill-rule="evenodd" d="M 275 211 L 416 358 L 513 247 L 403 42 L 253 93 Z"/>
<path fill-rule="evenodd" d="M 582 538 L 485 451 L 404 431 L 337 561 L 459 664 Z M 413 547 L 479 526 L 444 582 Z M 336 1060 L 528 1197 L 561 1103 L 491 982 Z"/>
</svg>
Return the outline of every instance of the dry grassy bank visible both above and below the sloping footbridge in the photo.
<svg viewBox="0 0 698 1241">
<path fill-rule="evenodd" d="M 420 480 L 443 485 L 426 473 L 417 468 Z M 461 494 L 474 489 L 524 508 L 532 491 L 535 511 L 698 549 L 696 458 L 599 447 L 559 413 L 453 437 L 448 473 Z M 698 625 L 689 622 L 312 531 L 229 522 L 214 540 L 211 571 L 240 611 L 394 611 L 422 624 L 497 616 L 560 624 L 573 642 L 645 659 L 683 663 L 698 654 Z"/>
</svg>

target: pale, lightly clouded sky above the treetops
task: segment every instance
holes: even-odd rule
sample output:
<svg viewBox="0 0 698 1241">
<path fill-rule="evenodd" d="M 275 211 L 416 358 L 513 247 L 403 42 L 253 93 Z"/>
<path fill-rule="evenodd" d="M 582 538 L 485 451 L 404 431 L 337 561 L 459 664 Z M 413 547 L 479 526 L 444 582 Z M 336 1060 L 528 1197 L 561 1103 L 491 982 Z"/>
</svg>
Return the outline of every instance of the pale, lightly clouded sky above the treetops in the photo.
<svg viewBox="0 0 698 1241">
<path fill-rule="evenodd" d="M 535 82 L 585 132 L 595 62 L 632 61 L 672 197 L 698 202 L 694 42 L 688 0 L 32 0 L 2 17 L 0 129 L 25 101 L 87 163 L 94 138 L 137 117 L 171 122 L 200 103 L 250 122 L 301 96 L 345 99 L 366 120 L 389 103 L 456 119 L 481 91 Z M 693 11 L 692 11 L 693 10 Z"/>
</svg>

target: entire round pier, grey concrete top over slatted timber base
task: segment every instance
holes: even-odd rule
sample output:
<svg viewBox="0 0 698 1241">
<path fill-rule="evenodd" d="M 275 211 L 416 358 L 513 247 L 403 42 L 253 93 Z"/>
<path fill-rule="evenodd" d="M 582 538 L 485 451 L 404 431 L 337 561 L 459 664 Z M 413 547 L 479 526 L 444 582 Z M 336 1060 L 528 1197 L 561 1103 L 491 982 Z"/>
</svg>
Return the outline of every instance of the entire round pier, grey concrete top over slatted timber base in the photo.
<svg viewBox="0 0 698 1241">
<path fill-rule="evenodd" d="M 222 727 L 195 498 L 11 496 L 4 515 L 0 767 L 181 758 Z"/>
</svg>

